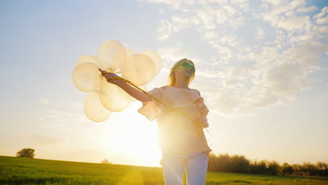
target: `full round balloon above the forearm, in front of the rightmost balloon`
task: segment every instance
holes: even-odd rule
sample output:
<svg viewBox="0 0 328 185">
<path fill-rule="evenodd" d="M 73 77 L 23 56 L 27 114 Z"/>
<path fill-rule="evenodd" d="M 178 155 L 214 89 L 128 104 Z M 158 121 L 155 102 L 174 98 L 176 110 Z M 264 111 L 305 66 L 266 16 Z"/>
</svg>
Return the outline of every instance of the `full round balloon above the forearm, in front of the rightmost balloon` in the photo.
<svg viewBox="0 0 328 185">
<path fill-rule="evenodd" d="M 144 54 L 131 55 L 122 68 L 122 76 L 135 85 L 149 83 L 155 75 L 155 64 Z"/>
</svg>

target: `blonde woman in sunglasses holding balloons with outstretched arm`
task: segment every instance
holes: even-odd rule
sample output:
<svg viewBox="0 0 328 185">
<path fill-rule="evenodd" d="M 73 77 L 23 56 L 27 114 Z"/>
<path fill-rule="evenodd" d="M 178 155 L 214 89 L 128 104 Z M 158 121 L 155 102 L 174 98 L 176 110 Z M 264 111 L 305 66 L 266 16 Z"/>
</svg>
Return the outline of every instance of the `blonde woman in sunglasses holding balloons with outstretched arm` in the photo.
<svg viewBox="0 0 328 185">
<path fill-rule="evenodd" d="M 102 71 L 102 75 L 109 83 L 118 85 L 142 102 L 139 113 L 150 121 L 157 118 L 165 184 L 182 184 L 184 170 L 189 185 L 205 184 L 208 153 L 212 151 L 203 132 L 203 128 L 208 127 L 208 109 L 198 90 L 189 88 L 189 83 L 195 76 L 193 62 L 179 60 L 170 71 L 170 84 L 148 91 L 156 99 L 170 105 L 173 110 L 128 83 L 112 79 L 116 74 Z"/>
</svg>

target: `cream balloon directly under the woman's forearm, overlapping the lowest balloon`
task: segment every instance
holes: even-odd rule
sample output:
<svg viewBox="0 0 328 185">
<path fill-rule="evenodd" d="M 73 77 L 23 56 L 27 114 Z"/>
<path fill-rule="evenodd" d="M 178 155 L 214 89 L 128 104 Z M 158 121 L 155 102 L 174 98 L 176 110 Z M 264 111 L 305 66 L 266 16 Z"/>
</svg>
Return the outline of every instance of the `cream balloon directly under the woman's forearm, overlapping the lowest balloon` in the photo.
<svg viewBox="0 0 328 185">
<path fill-rule="evenodd" d="M 113 83 L 102 80 L 99 97 L 102 105 L 109 111 L 123 111 L 130 103 L 130 95 Z"/>
</svg>

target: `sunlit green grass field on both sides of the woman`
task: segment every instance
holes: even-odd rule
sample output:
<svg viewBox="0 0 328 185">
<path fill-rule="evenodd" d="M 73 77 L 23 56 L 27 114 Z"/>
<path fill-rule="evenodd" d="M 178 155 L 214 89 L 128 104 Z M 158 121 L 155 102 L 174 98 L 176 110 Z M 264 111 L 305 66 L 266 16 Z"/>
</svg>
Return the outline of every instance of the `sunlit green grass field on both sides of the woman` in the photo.
<svg viewBox="0 0 328 185">
<path fill-rule="evenodd" d="M 0 156 L 0 184 L 164 184 L 160 167 Z M 327 178 L 208 172 L 207 185 L 323 185 Z"/>
</svg>

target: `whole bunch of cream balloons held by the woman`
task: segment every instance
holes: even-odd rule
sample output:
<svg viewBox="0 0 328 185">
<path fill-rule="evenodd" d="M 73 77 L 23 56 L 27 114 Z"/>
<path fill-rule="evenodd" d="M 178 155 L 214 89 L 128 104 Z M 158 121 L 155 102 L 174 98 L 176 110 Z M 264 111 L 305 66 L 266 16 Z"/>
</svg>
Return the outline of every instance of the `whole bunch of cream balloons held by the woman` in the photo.
<svg viewBox="0 0 328 185">
<path fill-rule="evenodd" d="M 122 78 L 144 89 L 158 74 L 162 65 L 162 60 L 156 52 L 146 50 L 135 53 L 118 41 L 102 43 L 97 56 L 79 57 L 72 78 L 78 90 L 91 92 L 84 102 L 86 116 L 91 121 L 105 121 L 111 112 L 123 111 L 134 99 L 117 85 L 108 83 L 98 68 L 121 73 Z"/>
</svg>

